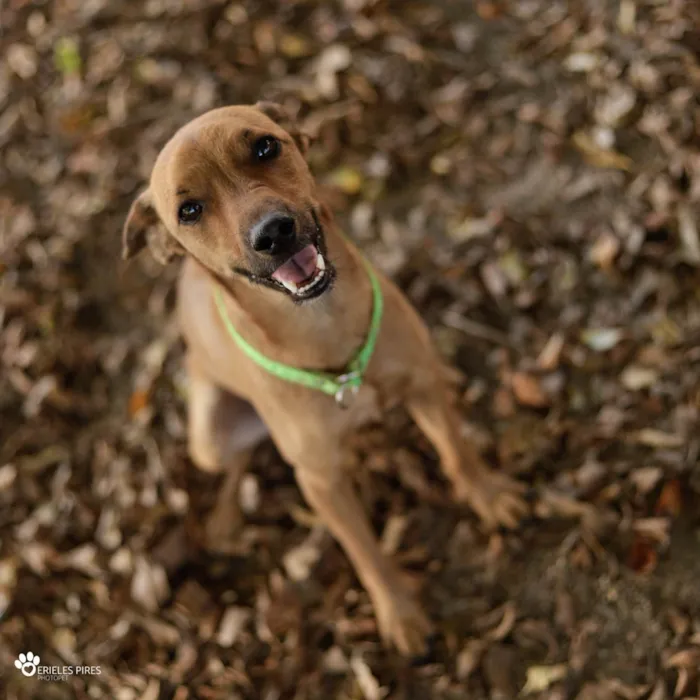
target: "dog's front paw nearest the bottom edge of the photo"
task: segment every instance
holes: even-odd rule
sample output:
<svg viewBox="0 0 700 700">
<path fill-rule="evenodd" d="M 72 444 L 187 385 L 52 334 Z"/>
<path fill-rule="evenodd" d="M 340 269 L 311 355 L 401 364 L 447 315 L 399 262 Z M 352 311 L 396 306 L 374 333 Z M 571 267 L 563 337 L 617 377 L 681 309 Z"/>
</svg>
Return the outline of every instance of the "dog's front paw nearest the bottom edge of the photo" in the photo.
<svg viewBox="0 0 700 700">
<path fill-rule="evenodd" d="M 425 655 L 433 626 L 413 598 L 396 591 L 376 601 L 374 608 L 379 634 L 385 644 L 396 647 L 403 656 Z"/>
</svg>

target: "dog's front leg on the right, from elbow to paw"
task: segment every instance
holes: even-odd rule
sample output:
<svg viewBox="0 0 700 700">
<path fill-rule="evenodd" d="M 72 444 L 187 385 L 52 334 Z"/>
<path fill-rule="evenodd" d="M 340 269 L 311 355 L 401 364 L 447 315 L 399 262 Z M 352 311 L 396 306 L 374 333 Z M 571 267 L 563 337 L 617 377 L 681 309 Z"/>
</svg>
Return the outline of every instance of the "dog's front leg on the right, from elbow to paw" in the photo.
<svg viewBox="0 0 700 700">
<path fill-rule="evenodd" d="M 484 463 L 475 445 L 461 434 L 447 388 L 437 373 L 433 379 L 412 387 L 407 408 L 438 453 L 456 498 L 469 504 L 489 528 L 515 527 L 527 512 L 521 497 L 524 487 Z"/>
</svg>

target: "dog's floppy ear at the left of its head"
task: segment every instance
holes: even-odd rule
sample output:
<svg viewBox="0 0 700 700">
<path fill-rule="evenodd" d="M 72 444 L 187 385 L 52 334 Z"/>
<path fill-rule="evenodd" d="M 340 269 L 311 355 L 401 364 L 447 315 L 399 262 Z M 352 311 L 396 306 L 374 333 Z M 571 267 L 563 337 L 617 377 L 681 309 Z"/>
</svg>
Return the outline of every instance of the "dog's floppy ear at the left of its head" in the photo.
<svg viewBox="0 0 700 700">
<path fill-rule="evenodd" d="M 122 258 L 130 260 L 146 246 L 163 265 L 185 252 L 163 226 L 148 189 L 134 200 L 127 214 L 122 230 Z"/>
</svg>

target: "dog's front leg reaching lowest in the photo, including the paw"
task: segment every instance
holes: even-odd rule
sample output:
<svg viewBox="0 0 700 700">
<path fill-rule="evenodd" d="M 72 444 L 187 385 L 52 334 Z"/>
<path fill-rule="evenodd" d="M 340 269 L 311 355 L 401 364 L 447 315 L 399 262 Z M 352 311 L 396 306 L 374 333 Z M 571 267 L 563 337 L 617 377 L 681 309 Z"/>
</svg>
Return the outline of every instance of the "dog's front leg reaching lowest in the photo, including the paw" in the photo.
<svg viewBox="0 0 700 700">
<path fill-rule="evenodd" d="M 297 468 L 296 477 L 306 500 L 352 561 L 372 599 L 382 638 L 402 654 L 424 653 L 430 623 L 399 570 L 379 548 L 350 476 L 334 467 L 323 471 Z"/>
</svg>

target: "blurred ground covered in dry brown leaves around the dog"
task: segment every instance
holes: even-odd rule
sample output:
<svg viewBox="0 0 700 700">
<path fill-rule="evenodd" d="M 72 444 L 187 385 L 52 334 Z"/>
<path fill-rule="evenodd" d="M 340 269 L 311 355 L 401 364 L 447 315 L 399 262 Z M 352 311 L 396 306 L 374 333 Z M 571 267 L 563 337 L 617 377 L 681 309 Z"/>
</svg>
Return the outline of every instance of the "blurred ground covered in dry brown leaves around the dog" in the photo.
<svg viewBox="0 0 700 700">
<path fill-rule="evenodd" d="M 699 10 L 4 0 L 3 697 L 697 697 Z M 178 266 L 119 258 L 169 136 L 262 98 L 314 137 L 339 221 L 532 487 L 533 519 L 488 536 L 403 414 L 358 437 L 363 500 L 439 630 L 422 665 L 381 648 L 271 445 L 235 551 L 207 548 Z M 24 678 L 29 650 L 101 674 Z"/>
</svg>

